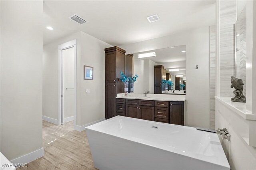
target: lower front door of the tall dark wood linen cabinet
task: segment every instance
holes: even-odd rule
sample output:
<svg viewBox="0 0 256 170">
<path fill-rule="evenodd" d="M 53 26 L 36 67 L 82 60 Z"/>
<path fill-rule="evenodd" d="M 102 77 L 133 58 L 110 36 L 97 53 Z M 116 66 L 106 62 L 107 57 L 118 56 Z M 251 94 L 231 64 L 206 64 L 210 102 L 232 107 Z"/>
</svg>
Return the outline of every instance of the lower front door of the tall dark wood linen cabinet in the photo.
<svg viewBox="0 0 256 170">
<path fill-rule="evenodd" d="M 116 83 L 105 85 L 105 118 L 116 116 Z"/>
</svg>

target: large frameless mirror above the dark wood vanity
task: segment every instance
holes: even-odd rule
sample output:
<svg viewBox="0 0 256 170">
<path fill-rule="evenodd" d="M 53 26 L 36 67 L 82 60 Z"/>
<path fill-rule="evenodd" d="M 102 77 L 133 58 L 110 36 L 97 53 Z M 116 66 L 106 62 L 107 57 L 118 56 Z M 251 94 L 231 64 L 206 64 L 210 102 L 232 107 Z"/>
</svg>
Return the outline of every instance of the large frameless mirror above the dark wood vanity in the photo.
<svg viewBox="0 0 256 170">
<path fill-rule="evenodd" d="M 185 95 L 186 45 L 134 53 L 133 73 L 134 93 Z"/>
</svg>

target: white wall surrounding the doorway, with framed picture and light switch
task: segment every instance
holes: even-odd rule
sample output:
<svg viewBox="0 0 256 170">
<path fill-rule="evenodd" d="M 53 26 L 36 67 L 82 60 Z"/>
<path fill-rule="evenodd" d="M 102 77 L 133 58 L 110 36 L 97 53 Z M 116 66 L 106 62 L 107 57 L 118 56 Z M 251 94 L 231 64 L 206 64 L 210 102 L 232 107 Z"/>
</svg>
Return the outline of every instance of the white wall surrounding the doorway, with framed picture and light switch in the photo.
<svg viewBox="0 0 256 170">
<path fill-rule="evenodd" d="M 77 40 L 76 124 L 83 126 L 105 118 L 105 51 L 111 45 L 84 32 L 44 45 L 43 115 L 58 119 L 58 45 Z M 93 80 L 84 80 L 84 65 L 94 67 Z M 85 93 L 90 89 L 90 93 Z"/>
</svg>

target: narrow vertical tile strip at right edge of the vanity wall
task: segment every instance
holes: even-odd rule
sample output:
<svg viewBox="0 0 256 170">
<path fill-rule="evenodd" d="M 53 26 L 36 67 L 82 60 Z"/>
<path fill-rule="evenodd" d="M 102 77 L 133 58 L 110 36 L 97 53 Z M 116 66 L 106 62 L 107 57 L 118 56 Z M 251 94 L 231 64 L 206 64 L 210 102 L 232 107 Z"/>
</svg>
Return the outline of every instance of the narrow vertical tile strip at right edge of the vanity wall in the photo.
<svg viewBox="0 0 256 170">
<path fill-rule="evenodd" d="M 210 129 L 215 129 L 216 26 L 210 26 Z"/>
</svg>

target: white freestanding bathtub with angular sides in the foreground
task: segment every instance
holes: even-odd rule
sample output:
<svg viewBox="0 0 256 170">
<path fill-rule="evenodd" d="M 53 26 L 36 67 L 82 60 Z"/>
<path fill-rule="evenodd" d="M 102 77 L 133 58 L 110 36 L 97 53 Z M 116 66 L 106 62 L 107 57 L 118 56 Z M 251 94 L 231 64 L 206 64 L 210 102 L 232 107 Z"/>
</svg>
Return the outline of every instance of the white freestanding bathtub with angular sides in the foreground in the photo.
<svg viewBox="0 0 256 170">
<path fill-rule="evenodd" d="M 215 133 L 116 116 L 86 127 L 100 170 L 230 170 Z"/>
</svg>

